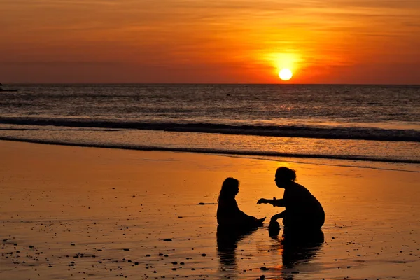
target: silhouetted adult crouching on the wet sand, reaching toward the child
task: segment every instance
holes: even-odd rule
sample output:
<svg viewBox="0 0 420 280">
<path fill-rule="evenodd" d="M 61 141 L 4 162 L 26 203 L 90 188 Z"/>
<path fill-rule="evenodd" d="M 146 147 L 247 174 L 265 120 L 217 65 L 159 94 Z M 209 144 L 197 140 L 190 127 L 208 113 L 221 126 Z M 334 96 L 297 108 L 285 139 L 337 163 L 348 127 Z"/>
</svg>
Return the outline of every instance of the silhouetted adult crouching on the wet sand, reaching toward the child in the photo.
<svg viewBox="0 0 420 280">
<path fill-rule="evenodd" d="M 276 171 L 276 185 L 284 188 L 281 200 L 261 198 L 257 204 L 268 203 L 275 207 L 286 207 L 286 210 L 272 216 L 271 222 L 283 218 L 285 230 L 319 230 L 325 221 L 321 203 L 316 200 L 307 188 L 295 182 L 295 170 L 279 167 Z"/>
</svg>

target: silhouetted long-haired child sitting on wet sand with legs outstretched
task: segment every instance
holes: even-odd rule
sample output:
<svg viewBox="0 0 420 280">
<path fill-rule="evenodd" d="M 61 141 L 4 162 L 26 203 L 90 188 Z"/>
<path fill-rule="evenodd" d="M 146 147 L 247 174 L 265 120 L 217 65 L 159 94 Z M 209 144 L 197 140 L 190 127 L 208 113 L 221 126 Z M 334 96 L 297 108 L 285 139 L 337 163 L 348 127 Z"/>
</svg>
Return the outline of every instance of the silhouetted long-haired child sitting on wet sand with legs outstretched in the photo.
<svg viewBox="0 0 420 280">
<path fill-rule="evenodd" d="M 239 181 L 235 178 L 227 178 L 222 184 L 221 193 L 218 197 L 217 223 L 223 226 L 235 226 L 241 228 L 253 228 L 262 225 L 265 218 L 255 218 L 246 215 L 239 210 L 235 196 L 239 193 Z"/>
</svg>

